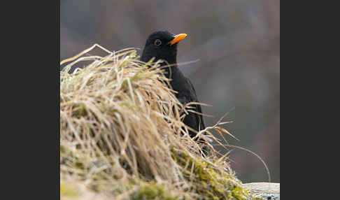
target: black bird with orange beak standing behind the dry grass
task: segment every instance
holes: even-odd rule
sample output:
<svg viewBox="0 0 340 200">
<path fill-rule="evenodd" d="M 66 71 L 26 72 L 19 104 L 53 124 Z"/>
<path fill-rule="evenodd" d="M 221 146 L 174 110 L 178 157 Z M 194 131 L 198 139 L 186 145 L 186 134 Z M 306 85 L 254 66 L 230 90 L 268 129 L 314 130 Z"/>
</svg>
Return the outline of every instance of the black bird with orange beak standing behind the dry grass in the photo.
<svg viewBox="0 0 340 200">
<path fill-rule="evenodd" d="M 146 45 L 141 55 L 141 61 L 148 62 L 151 58 L 155 57 L 155 60 L 162 59 L 166 62 L 162 62 L 161 66 L 169 64 L 169 67 L 165 68 L 165 76 L 170 79 L 170 84 L 173 90 L 175 90 L 176 97 L 183 105 L 190 102 L 199 102 L 197 99 L 194 86 L 188 78 L 176 66 L 177 45 L 179 41 L 185 38 L 186 34 L 171 34 L 169 31 L 155 31 L 150 34 L 146 40 Z M 202 113 L 201 105 L 195 104 L 194 111 Z M 184 124 L 197 131 L 205 129 L 203 116 L 196 113 L 188 112 L 183 120 Z M 196 136 L 196 133 L 189 130 L 190 137 Z M 204 143 L 199 139 L 199 143 Z M 206 147 L 204 147 L 206 152 Z"/>
</svg>

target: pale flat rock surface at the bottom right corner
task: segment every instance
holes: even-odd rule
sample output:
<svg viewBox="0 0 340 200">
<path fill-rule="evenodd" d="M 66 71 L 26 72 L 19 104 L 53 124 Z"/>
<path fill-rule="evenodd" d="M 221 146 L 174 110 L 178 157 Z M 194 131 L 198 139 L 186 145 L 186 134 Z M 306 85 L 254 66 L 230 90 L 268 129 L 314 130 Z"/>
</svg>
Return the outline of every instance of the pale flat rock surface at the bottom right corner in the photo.
<svg viewBox="0 0 340 200">
<path fill-rule="evenodd" d="M 280 200 L 280 183 L 244 183 L 243 186 L 263 199 Z"/>
</svg>

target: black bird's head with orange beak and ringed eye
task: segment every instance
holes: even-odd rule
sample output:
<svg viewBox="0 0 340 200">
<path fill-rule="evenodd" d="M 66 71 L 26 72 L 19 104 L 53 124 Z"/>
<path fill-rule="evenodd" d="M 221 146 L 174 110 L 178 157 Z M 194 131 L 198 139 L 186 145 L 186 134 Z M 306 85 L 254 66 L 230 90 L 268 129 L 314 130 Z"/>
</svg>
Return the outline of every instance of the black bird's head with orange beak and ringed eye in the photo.
<svg viewBox="0 0 340 200">
<path fill-rule="evenodd" d="M 151 58 L 164 59 L 169 64 L 176 64 L 177 44 L 186 34 L 171 34 L 169 31 L 156 31 L 150 34 L 143 49 L 141 61 L 148 62 Z"/>
</svg>

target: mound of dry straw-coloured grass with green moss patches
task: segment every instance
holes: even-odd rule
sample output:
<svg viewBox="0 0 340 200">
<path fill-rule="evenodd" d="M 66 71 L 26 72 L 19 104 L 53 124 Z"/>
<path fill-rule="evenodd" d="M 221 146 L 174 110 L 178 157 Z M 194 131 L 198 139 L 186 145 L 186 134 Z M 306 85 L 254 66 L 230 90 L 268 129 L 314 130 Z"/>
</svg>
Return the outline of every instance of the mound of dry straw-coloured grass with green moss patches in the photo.
<svg viewBox="0 0 340 200">
<path fill-rule="evenodd" d="M 83 188 L 61 189 L 62 199 L 245 199 L 227 156 L 218 159 L 210 146 L 202 157 L 188 136 L 181 120 L 190 109 L 169 89 L 160 61 L 142 63 L 133 49 L 105 51 L 73 57 L 60 72 L 61 184 Z M 83 60 L 93 62 L 68 73 Z"/>
</svg>

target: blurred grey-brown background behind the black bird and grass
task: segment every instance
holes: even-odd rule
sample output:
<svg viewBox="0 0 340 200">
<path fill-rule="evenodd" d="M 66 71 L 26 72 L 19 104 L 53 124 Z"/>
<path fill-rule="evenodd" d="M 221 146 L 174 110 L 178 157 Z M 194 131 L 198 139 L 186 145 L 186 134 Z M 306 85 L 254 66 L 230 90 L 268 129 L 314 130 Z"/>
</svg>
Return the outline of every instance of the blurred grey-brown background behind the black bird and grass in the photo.
<svg viewBox="0 0 340 200">
<path fill-rule="evenodd" d="M 206 126 L 228 113 L 224 124 L 267 163 L 280 182 L 280 1 L 89 1 L 60 2 L 60 60 L 99 43 L 108 50 L 141 48 L 150 33 L 187 34 L 178 45 L 178 62 L 199 100 Z M 94 54 L 94 53 L 92 53 Z M 139 55 L 141 51 L 139 51 Z M 221 153 L 229 149 L 218 147 Z M 232 169 L 243 183 L 265 182 L 257 157 L 234 149 Z"/>
</svg>

